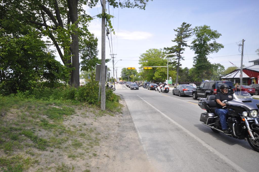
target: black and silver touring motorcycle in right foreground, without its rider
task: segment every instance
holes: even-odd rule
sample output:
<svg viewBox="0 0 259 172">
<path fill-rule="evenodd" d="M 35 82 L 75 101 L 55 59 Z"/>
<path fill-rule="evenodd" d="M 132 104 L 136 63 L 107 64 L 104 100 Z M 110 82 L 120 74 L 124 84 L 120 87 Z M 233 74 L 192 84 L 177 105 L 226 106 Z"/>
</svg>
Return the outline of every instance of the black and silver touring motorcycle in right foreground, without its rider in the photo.
<svg viewBox="0 0 259 172">
<path fill-rule="evenodd" d="M 221 129 L 219 116 L 215 113 L 216 102 L 214 99 L 215 95 L 210 95 L 207 99 L 201 98 L 199 100 L 200 108 L 207 111 L 200 114 L 200 121 L 215 133 L 224 133 Z M 238 91 L 233 94 L 233 100 L 222 101 L 222 103 L 226 103 L 223 108 L 229 110 L 226 119 L 230 134 L 226 135 L 248 141 L 249 145 L 259 152 L 259 100 L 253 99 L 246 91 Z"/>
</svg>

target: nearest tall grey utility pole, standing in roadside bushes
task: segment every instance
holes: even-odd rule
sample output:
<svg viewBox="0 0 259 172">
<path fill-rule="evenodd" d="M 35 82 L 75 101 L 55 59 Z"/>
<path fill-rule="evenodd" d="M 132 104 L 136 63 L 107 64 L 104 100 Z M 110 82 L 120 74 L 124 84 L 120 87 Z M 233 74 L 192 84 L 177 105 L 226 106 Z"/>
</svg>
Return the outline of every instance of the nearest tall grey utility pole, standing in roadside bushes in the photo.
<svg viewBox="0 0 259 172">
<path fill-rule="evenodd" d="M 105 6 L 106 1 L 102 0 L 102 60 L 101 60 L 101 110 L 105 110 Z"/>
</svg>

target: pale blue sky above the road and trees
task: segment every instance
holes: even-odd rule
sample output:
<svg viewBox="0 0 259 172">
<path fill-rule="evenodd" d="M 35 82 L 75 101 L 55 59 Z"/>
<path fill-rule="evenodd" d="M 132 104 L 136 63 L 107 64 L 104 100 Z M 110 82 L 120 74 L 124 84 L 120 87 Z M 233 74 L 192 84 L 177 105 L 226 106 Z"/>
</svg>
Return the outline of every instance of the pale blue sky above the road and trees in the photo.
<svg viewBox="0 0 259 172">
<path fill-rule="evenodd" d="M 112 35 L 113 53 L 118 61 L 118 76 L 121 67 L 139 67 L 140 54 L 150 48 L 171 47 L 175 38 L 173 29 L 183 22 L 190 23 L 192 27 L 208 25 L 217 30 L 222 36 L 217 42 L 224 45 L 218 53 L 210 54 L 208 59 L 211 63 L 220 63 L 225 68 L 241 64 L 241 55 L 238 52 L 238 43 L 245 39 L 244 62 L 259 58 L 255 51 L 259 48 L 259 1 L 176 1 L 154 0 L 150 1 L 146 10 L 140 9 L 113 9 L 110 14 L 114 16 L 112 24 L 115 35 Z M 106 8 L 108 9 L 107 3 Z M 90 9 L 85 8 L 90 16 L 101 12 L 100 3 Z M 107 11 L 108 12 L 108 11 Z M 90 26 L 90 32 L 99 39 L 99 59 L 101 58 L 101 20 L 94 19 Z M 191 38 L 192 39 L 192 38 Z M 189 41 L 189 45 L 191 43 Z M 111 43 L 111 42 L 110 42 Z M 111 58 L 109 41 L 106 37 L 106 59 Z M 246 55 L 249 54 L 249 55 Z M 236 56 L 227 56 L 236 55 Z M 186 60 L 181 61 L 182 67 L 191 68 L 195 54 L 186 48 L 183 56 Z M 225 56 L 225 57 L 218 57 Z M 215 57 L 215 58 L 214 58 Z M 131 61 L 129 61 L 131 60 Z M 134 61 L 135 60 L 135 61 Z M 108 67 L 112 66 L 109 62 Z"/>
</svg>

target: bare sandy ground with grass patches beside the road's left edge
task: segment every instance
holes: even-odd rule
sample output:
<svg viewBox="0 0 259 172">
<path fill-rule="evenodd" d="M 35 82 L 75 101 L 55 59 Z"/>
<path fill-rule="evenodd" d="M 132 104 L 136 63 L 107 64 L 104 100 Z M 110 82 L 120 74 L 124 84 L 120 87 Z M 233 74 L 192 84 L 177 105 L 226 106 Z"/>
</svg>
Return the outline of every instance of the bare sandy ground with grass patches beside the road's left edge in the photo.
<svg viewBox="0 0 259 172">
<path fill-rule="evenodd" d="M 38 161 L 25 170 L 28 172 L 159 171 L 152 166 L 140 143 L 123 97 L 120 103 L 124 106 L 122 113 L 115 113 L 114 116 L 103 114 L 99 109 L 88 105 L 75 107 L 74 115 L 64 117 L 66 133 L 53 134 L 48 130 L 35 128 L 35 134 L 51 139 L 53 146 L 45 151 L 25 146 L 24 149 L 15 149 L 13 155 L 21 155 L 24 158 L 30 156 Z M 15 121 L 19 113 L 18 109 L 11 110 L 2 120 Z M 47 119 L 47 116 L 41 117 Z M 30 129 L 30 126 L 28 127 Z M 27 145 L 32 143 L 24 135 L 20 137 Z M 81 145 L 76 147 L 76 143 Z M 0 157 L 2 156 L 6 154 L 0 150 Z"/>
</svg>

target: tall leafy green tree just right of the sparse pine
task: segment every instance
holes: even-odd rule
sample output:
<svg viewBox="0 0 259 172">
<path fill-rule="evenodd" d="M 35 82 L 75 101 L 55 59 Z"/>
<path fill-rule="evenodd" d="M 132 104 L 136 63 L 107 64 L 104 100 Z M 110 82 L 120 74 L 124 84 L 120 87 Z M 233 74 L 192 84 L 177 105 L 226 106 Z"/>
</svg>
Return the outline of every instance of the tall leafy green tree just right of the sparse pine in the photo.
<svg viewBox="0 0 259 172">
<path fill-rule="evenodd" d="M 195 38 L 191 49 L 196 54 L 193 58 L 194 77 L 196 81 L 201 81 L 213 75 L 213 65 L 208 61 L 207 55 L 217 53 L 224 46 L 215 41 L 221 34 L 217 30 L 212 30 L 210 26 L 196 26 L 193 30 Z"/>
</svg>

